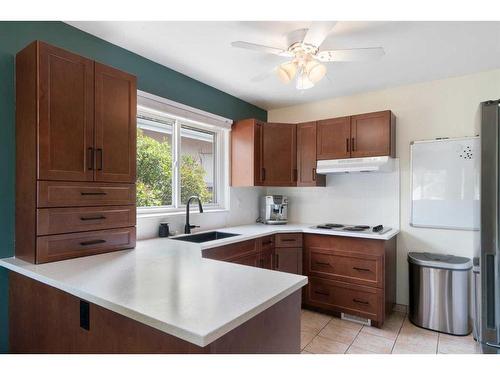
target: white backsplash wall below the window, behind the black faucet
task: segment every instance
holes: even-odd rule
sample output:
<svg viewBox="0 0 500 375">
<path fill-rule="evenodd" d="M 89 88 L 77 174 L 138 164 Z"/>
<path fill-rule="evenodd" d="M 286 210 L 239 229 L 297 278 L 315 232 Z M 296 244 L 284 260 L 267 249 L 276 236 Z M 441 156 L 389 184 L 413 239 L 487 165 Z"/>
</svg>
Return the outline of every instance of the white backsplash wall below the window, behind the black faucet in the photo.
<svg viewBox="0 0 500 375">
<path fill-rule="evenodd" d="M 230 188 L 230 209 L 228 211 L 205 211 L 190 213 L 190 222 L 200 225 L 197 230 L 207 230 L 255 223 L 259 216 L 259 197 L 265 194 L 263 188 Z M 198 210 L 198 205 L 193 204 Z M 156 215 L 150 217 L 139 217 L 137 220 L 137 239 L 143 240 L 158 236 L 160 222 L 170 223 L 170 230 L 183 233 L 186 220 L 185 211 L 172 215 Z"/>
</svg>

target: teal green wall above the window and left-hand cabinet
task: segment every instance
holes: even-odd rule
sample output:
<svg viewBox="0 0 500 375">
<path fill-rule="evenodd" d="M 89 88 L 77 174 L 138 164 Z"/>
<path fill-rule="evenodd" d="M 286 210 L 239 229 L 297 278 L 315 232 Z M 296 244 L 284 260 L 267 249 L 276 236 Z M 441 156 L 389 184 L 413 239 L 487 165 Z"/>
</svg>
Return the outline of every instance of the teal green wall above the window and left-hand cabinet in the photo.
<svg viewBox="0 0 500 375">
<path fill-rule="evenodd" d="M 62 22 L 0 22 L 0 258 L 14 254 L 14 57 L 37 39 L 135 74 L 140 90 L 233 120 L 267 119 L 263 109 Z M 7 294 L 0 268 L 0 353 L 8 349 Z"/>
</svg>

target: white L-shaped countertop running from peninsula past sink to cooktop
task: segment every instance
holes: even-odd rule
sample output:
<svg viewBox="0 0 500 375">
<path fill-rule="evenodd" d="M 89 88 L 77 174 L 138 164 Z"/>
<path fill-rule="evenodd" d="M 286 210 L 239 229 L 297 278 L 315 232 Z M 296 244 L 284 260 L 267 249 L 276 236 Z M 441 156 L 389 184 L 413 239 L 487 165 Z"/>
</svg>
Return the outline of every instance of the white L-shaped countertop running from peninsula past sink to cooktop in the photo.
<svg viewBox="0 0 500 375">
<path fill-rule="evenodd" d="M 201 257 L 201 249 L 268 234 L 303 232 L 388 240 L 383 235 L 332 232 L 311 225 L 253 224 L 219 229 L 239 236 L 195 244 L 138 241 L 135 249 L 31 264 L 0 266 L 68 292 L 199 346 L 206 346 L 307 284 L 307 277 Z"/>
</svg>

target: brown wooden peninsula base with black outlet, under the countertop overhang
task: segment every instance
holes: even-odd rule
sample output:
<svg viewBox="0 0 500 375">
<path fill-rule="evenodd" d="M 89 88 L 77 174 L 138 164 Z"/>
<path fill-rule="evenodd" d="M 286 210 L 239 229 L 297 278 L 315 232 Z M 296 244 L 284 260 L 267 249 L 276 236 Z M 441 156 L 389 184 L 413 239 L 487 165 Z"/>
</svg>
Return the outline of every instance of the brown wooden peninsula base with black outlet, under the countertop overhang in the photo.
<svg viewBox="0 0 500 375">
<path fill-rule="evenodd" d="M 299 290 L 198 346 L 9 272 L 10 353 L 299 354 L 300 305 Z"/>
</svg>

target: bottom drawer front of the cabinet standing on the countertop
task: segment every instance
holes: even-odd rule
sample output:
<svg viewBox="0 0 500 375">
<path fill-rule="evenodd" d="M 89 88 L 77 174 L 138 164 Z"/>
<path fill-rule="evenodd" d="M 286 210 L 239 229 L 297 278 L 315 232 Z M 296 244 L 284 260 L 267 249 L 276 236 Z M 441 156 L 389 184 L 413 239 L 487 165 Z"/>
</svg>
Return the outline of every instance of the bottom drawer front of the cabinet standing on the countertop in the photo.
<svg viewBox="0 0 500 375">
<path fill-rule="evenodd" d="M 135 227 L 37 237 L 37 263 L 129 249 Z"/>
</svg>

